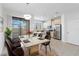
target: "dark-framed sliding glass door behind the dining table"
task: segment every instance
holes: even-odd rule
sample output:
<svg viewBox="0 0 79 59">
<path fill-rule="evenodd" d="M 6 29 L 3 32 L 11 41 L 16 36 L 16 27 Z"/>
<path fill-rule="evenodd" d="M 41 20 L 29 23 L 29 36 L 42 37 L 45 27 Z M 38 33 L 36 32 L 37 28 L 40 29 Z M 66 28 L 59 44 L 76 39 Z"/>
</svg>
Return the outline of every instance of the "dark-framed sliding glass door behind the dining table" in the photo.
<svg viewBox="0 0 79 59">
<path fill-rule="evenodd" d="M 26 35 L 29 30 L 29 21 L 23 18 L 12 17 L 12 37 Z"/>
</svg>

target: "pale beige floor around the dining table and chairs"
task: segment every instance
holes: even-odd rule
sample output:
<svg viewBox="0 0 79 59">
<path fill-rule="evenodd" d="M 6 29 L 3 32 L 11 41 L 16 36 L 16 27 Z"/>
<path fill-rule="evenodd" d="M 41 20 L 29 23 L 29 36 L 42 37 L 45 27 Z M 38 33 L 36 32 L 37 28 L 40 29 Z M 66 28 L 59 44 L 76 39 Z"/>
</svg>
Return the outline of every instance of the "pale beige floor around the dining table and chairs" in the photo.
<svg viewBox="0 0 79 59">
<path fill-rule="evenodd" d="M 79 46 L 62 42 L 61 40 L 51 39 L 51 49 L 52 56 L 79 56 Z M 49 50 L 48 55 L 50 55 Z M 6 47 L 3 48 L 1 56 L 8 56 Z"/>
</svg>

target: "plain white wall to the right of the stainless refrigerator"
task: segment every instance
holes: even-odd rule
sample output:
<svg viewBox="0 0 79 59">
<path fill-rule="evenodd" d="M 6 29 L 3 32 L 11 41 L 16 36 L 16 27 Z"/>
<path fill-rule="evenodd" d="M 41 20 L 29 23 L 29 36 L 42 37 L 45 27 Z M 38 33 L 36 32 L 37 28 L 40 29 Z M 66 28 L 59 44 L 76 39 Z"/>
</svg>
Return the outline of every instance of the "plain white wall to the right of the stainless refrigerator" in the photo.
<svg viewBox="0 0 79 59">
<path fill-rule="evenodd" d="M 63 41 L 79 45 L 79 10 L 65 13 L 64 22 L 65 39 Z"/>
</svg>

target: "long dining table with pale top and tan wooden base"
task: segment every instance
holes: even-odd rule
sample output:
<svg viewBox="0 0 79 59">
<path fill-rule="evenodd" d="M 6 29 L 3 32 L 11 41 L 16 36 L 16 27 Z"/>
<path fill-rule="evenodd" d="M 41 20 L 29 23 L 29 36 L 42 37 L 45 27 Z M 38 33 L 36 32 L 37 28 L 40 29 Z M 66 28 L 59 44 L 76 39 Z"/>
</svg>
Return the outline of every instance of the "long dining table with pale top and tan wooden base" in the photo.
<svg viewBox="0 0 79 59">
<path fill-rule="evenodd" d="M 49 42 L 49 40 L 44 38 L 39 39 L 39 37 L 37 36 L 29 38 L 20 38 L 20 39 L 21 39 L 21 46 L 24 48 L 24 50 L 28 49 L 29 55 L 34 55 L 34 53 L 39 54 L 39 48 L 40 48 L 39 45 L 45 42 Z"/>
</svg>

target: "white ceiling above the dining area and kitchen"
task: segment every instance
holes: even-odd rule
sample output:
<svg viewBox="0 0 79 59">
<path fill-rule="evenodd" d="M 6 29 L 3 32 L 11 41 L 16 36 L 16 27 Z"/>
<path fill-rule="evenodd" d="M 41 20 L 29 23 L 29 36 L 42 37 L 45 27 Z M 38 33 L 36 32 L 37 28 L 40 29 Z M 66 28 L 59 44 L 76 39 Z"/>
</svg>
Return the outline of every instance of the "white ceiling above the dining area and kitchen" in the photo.
<svg viewBox="0 0 79 59">
<path fill-rule="evenodd" d="M 53 17 L 56 12 L 64 14 L 72 10 L 79 10 L 79 4 L 77 3 L 4 3 L 3 7 L 24 14 L 50 18 Z"/>
</svg>

